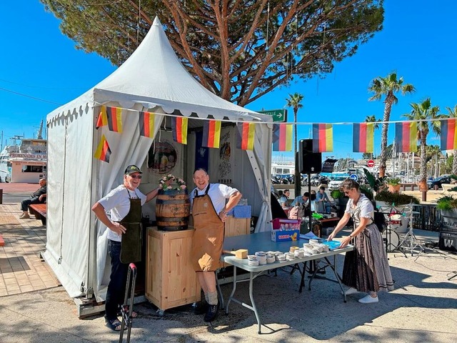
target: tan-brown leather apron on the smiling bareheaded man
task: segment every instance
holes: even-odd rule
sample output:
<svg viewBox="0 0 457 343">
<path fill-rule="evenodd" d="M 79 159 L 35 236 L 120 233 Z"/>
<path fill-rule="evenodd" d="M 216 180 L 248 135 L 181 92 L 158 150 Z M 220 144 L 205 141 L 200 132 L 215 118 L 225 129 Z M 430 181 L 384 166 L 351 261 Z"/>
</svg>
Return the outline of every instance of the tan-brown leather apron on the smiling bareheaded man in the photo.
<svg viewBox="0 0 457 343">
<path fill-rule="evenodd" d="M 192 262 L 196 272 L 214 272 L 219 268 L 224 243 L 224 222 L 214 209 L 208 195 L 209 187 L 211 184 L 201 196 L 196 190 L 192 202 L 195 229 L 192 240 Z"/>
</svg>

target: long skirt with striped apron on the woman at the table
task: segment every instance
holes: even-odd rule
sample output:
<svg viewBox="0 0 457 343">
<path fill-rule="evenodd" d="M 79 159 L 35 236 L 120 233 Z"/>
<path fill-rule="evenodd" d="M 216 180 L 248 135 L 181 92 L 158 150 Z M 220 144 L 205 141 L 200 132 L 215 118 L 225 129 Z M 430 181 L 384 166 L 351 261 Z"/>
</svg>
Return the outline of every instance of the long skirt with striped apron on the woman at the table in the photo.
<svg viewBox="0 0 457 343">
<path fill-rule="evenodd" d="M 355 246 L 353 252 L 346 252 L 343 284 L 367 293 L 393 290 L 391 269 L 376 224 L 357 235 Z"/>
</svg>

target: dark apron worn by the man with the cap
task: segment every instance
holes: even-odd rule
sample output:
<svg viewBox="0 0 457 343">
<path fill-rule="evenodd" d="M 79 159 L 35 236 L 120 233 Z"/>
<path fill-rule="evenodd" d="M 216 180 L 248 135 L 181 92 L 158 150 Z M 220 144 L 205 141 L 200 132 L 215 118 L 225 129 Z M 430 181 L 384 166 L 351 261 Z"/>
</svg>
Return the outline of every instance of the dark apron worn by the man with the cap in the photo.
<svg viewBox="0 0 457 343">
<path fill-rule="evenodd" d="M 129 190 L 127 190 L 129 192 Z M 141 261 L 141 199 L 130 197 L 130 211 L 119 222 L 126 228 L 121 240 L 121 262 L 131 263 Z"/>
</svg>

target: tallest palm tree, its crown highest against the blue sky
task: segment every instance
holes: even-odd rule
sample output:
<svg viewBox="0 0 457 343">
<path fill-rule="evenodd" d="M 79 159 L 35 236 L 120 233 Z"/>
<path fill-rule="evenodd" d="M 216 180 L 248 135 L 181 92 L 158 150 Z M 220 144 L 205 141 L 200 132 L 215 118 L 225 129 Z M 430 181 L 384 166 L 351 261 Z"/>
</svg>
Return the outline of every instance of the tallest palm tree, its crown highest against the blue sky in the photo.
<svg viewBox="0 0 457 343">
<path fill-rule="evenodd" d="M 401 94 L 405 95 L 413 93 L 416 89 L 412 84 L 403 84 L 403 77 L 397 79 L 397 73 L 393 71 L 386 77 L 378 76 L 376 79 L 373 79 L 368 87 L 368 91 L 374 93 L 368 99 L 369 101 L 380 100 L 381 96 L 386 96 L 386 99 L 384 99 L 383 128 L 381 131 L 381 161 L 379 164 L 379 176 L 383 177 L 386 174 L 388 121 L 391 119 L 392 105 L 398 102 L 395 94 L 401 91 Z"/>
</svg>

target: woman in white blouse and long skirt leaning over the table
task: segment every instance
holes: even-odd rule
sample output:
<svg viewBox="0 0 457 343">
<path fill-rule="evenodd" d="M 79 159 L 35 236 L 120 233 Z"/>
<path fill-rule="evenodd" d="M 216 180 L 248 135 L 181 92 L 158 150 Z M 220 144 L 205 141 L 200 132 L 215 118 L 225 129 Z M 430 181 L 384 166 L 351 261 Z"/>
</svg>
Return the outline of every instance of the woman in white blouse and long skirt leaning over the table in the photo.
<svg viewBox="0 0 457 343">
<path fill-rule="evenodd" d="M 349 201 L 343 218 L 328 236 L 328 241 L 346 226 L 349 219 L 353 219 L 353 231 L 341 239 L 341 247 L 346 247 L 351 241 L 355 247 L 353 252 L 346 252 L 344 259 L 343 284 L 350 287 L 346 295 L 366 292 L 368 295 L 358 302 L 376 303 L 378 292 L 393 290 L 393 280 L 381 232 L 373 221 L 373 204 L 361 194 L 359 184 L 351 179 L 346 179 L 340 189 Z"/>
</svg>

